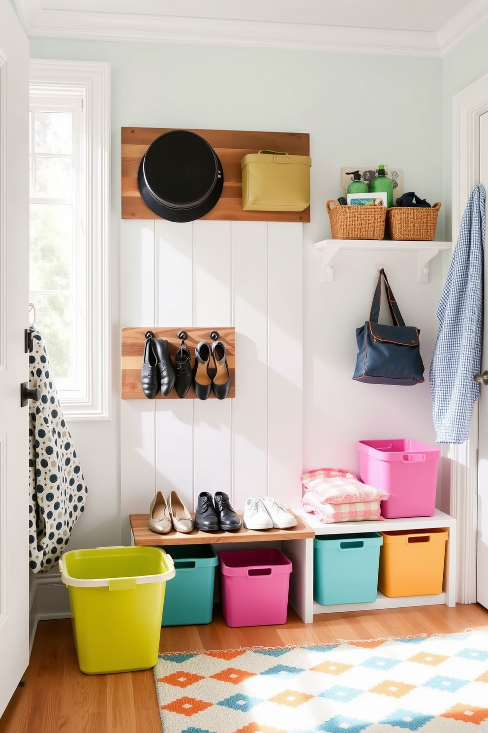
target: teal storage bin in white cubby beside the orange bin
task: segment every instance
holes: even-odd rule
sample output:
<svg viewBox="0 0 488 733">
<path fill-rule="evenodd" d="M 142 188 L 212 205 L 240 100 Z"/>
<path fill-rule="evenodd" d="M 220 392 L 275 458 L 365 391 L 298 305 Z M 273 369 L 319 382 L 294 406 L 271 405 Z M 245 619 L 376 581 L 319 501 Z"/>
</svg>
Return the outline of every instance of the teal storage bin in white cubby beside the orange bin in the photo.
<svg viewBox="0 0 488 733">
<path fill-rule="evenodd" d="M 315 603 L 374 603 L 378 590 L 380 545 L 383 545 L 383 537 L 378 532 L 315 537 Z"/>
</svg>

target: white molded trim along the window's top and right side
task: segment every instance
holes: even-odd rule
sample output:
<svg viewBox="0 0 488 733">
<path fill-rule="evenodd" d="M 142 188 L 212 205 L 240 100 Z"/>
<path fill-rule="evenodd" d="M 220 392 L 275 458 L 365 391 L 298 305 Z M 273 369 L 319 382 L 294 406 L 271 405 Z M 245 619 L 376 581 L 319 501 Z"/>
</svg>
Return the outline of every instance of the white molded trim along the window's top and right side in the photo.
<svg viewBox="0 0 488 733">
<path fill-rule="evenodd" d="M 86 257 L 78 278 L 85 280 L 86 345 L 77 353 L 86 358 L 86 394 L 58 389 L 70 419 L 110 416 L 110 64 L 56 59 L 31 59 L 30 96 L 81 95 L 86 161 Z"/>
</svg>

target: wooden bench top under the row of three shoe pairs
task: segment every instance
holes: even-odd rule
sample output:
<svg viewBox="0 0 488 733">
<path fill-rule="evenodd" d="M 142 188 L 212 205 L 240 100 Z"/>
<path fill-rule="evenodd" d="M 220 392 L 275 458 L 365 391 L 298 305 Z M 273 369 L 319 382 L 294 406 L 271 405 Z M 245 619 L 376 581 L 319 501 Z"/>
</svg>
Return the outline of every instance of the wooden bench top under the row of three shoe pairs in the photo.
<svg viewBox="0 0 488 733">
<path fill-rule="evenodd" d="M 236 512 L 242 519 L 242 512 Z M 237 532 L 202 532 L 194 529 L 188 534 L 173 529 L 166 534 L 158 534 L 149 529 L 149 514 L 129 515 L 134 544 L 142 545 L 217 545 L 222 542 L 273 542 L 282 539 L 310 539 L 315 531 L 304 520 L 296 516 L 296 526 L 290 529 L 247 529 L 241 527 Z M 195 516 L 194 514 L 192 516 Z"/>
</svg>

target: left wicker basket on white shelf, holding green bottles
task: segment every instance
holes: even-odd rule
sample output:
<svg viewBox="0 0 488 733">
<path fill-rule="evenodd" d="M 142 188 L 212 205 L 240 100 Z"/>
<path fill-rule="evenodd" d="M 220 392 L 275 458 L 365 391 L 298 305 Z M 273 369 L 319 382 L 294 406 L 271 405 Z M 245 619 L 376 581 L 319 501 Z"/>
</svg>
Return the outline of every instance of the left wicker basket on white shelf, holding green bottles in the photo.
<svg viewBox="0 0 488 733">
<path fill-rule="evenodd" d="M 341 206 L 335 199 L 329 199 L 326 208 L 332 239 L 383 239 L 386 207 Z"/>
</svg>

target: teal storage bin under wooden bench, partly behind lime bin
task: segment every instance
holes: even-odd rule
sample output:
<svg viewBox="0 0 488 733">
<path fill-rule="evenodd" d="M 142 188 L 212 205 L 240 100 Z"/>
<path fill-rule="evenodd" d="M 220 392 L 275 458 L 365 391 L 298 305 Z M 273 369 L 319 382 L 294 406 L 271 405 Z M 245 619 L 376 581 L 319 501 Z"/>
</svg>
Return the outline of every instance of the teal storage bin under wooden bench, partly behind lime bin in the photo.
<svg viewBox="0 0 488 733">
<path fill-rule="evenodd" d="M 173 558 L 176 575 L 166 588 L 161 625 L 209 624 L 219 564 L 213 546 L 170 545 L 164 549 Z"/>
</svg>

